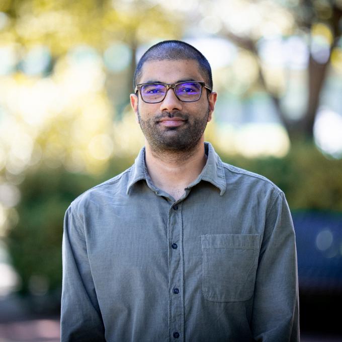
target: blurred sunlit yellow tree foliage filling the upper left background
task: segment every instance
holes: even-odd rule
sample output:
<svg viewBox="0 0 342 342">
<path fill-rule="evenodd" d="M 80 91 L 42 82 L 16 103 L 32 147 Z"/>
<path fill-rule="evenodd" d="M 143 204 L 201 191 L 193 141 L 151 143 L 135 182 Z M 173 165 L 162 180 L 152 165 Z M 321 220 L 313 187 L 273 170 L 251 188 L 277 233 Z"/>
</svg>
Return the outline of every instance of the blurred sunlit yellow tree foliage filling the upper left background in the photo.
<svg viewBox="0 0 342 342">
<path fill-rule="evenodd" d="M 152 1 L 1 2 L 0 53 L 5 46 L 13 66 L 0 79 L 8 125 L 0 169 L 18 174 L 43 159 L 101 172 L 114 150 L 113 118 L 121 119 L 132 92 L 137 47 L 180 37 L 182 27 L 176 13 Z M 43 61 L 35 55 L 30 64 L 37 50 Z M 23 134 L 26 140 L 14 138 Z"/>
</svg>

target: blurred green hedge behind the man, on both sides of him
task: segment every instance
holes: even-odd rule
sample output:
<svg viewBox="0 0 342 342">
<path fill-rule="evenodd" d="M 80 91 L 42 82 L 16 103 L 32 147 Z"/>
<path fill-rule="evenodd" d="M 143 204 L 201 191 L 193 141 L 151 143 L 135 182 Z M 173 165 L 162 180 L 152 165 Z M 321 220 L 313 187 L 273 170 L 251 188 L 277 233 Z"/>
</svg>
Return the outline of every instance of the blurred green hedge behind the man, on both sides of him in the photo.
<svg viewBox="0 0 342 342">
<path fill-rule="evenodd" d="M 312 145 L 300 144 L 285 158 L 223 160 L 266 176 L 286 194 L 290 208 L 342 211 L 342 160 L 325 158 Z M 61 286 L 62 222 L 70 202 L 85 190 L 129 167 L 134 160 L 112 160 L 105 174 L 91 177 L 64 169 L 40 169 L 21 185 L 20 220 L 9 232 L 8 245 L 14 266 L 29 292 L 30 278 L 45 277 L 49 291 Z M 31 285 L 32 287 L 32 285 Z"/>
</svg>

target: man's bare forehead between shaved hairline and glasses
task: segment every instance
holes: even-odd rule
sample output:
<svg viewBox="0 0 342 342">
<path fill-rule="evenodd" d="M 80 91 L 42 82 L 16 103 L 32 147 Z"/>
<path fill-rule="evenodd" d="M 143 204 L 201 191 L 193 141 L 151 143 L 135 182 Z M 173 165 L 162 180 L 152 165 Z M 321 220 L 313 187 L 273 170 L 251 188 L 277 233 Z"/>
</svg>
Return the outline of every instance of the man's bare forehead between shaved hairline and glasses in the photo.
<svg viewBox="0 0 342 342">
<path fill-rule="evenodd" d="M 139 83 L 158 81 L 175 83 L 183 80 L 204 81 L 199 63 L 193 59 L 150 60 L 143 64 Z"/>
</svg>

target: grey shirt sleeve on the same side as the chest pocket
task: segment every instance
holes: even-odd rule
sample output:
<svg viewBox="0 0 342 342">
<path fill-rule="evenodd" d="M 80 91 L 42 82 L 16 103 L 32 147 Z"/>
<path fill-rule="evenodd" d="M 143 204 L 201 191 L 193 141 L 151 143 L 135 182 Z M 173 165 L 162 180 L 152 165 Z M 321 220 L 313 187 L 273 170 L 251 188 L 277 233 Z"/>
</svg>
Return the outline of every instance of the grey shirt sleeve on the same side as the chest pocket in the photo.
<svg viewBox="0 0 342 342">
<path fill-rule="evenodd" d="M 256 341 L 299 341 L 295 232 L 283 193 L 278 195 L 266 217 L 251 328 Z"/>
</svg>

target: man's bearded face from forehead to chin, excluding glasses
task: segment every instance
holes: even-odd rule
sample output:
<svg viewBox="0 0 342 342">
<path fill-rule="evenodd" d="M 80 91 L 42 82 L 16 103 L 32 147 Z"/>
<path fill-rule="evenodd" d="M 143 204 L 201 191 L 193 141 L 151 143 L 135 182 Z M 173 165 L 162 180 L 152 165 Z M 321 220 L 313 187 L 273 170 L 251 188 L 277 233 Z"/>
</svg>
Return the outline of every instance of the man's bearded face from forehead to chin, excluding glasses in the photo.
<svg viewBox="0 0 342 342">
<path fill-rule="evenodd" d="M 139 83 L 177 83 L 187 80 L 205 81 L 195 60 L 148 61 L 142 67 Z M 139 97 L 139 98 L 138 98 Z M 154 151 L 191 150 L 203 142 L 203 133 L 216 102 L 216 93 L 203 88 L 196 102 L 182 102 L 173 89 L 156 104 L 145 103 L 131 95 L 131 105 L 147 143 Z"/>
</svg>

